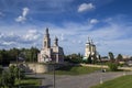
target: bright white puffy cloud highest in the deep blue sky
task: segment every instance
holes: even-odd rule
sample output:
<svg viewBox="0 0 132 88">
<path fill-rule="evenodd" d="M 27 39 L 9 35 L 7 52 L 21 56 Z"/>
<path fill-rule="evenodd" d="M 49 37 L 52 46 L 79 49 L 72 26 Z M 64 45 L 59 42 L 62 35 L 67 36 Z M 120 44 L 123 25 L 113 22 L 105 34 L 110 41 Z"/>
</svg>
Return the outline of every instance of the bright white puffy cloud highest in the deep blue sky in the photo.
<svg viewBox="0 0 132 88">
<path fill-rule="evenodd" d="M 78 8 L 78 12 L 84 12 L 84 11 L 90 11 L 95 9 L 96 7 L 92 3 L 82 3 Z"/>
</svg>

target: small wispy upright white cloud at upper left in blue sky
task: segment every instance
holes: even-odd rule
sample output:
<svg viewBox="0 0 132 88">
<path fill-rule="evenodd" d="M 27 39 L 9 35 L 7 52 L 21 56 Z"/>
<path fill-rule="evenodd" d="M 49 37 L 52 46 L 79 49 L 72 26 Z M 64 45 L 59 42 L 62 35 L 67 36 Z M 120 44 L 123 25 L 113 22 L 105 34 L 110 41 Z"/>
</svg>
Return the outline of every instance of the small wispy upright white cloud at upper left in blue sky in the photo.
<svg viewBox="0 0 132 88">
<path fill-rule="evenodd" d="M 26 20 L 26 15 L 29 13 L 30 9 L 29 8 L 23 8 L 22 15 L 18 16 L 15 19 L 16 22 L 24 22 Z"/>
</svg>

